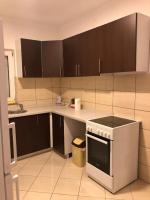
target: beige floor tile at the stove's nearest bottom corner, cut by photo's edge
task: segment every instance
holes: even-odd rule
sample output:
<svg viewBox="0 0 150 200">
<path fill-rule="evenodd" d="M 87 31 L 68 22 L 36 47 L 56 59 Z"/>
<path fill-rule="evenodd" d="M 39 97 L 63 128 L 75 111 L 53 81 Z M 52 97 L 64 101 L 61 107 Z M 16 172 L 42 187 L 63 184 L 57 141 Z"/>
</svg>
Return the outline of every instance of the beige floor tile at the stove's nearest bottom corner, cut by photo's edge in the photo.
<svg viewBox="0 0 150 200">
<path fill-rule="evenodd" d="M 122 199 L 122 200 L 133 200 L 132 194 L 130 190 L 130 186 L 125 187 L 124 189 L 118 191 L 115 194 L 112 194 L 111 192 L 106 190 L 106 198 L 112 198 L 112 199 Z"/>
</svg>

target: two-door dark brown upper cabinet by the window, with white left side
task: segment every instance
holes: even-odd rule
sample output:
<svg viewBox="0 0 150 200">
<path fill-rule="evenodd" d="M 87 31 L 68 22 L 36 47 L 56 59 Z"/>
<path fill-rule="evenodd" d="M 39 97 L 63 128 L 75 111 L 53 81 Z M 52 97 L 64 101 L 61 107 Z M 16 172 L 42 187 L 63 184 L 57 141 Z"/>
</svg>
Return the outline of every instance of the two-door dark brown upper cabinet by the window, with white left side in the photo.
<svg viewBox="0 0 150 200">
<path fill-rule="evenodd" d="M 18 77 L 59 77 L 62 73 L 62 41 L 21 39 L 17 43 Z M 21 53 L 21 55 L 19 55 Z"/>
</svg>

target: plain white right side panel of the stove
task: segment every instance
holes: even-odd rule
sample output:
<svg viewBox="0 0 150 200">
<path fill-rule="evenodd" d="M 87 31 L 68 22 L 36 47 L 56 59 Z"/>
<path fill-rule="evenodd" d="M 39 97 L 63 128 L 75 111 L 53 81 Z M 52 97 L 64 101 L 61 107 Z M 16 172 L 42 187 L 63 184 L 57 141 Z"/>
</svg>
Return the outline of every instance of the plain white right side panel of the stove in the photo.
<svg viewBox="0 0 150 200">
<path fill-rule="evenodd" d="M 117 191 L 137 179 L 139 124 L 116 128 L 114 136 L 113 176 Z"/>
</svg>

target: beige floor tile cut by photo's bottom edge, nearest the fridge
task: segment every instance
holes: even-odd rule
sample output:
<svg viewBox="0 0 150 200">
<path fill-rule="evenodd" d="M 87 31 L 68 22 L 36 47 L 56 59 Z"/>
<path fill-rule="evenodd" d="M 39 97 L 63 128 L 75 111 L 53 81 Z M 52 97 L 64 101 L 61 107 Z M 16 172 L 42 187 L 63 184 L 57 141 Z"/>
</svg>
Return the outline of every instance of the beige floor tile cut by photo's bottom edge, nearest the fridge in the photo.
<svg viewBox="0 0 150 200">
<path fill-rule="evenodd" d="M 28 192 L 24 200 L 50 200 L 50 197 L 48 193 Z"/>
</svg>

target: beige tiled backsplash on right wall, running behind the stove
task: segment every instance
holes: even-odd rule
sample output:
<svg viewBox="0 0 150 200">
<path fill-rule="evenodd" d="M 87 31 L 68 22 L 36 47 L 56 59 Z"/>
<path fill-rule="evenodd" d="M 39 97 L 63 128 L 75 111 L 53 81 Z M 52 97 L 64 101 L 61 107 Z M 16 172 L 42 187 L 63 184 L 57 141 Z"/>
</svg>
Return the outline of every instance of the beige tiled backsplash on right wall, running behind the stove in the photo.
<svg viewBox="0 0 150 200">
<path fill-rule="evenodd" d="M 142 121 L 139 176 L 150 182 L 150 75 L 108 74 L 99 77 L 62 78 L 65 101 L 80 97 L 83 108 Z"/>
</svg>

